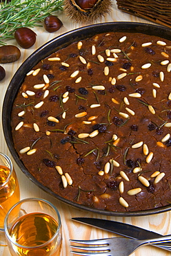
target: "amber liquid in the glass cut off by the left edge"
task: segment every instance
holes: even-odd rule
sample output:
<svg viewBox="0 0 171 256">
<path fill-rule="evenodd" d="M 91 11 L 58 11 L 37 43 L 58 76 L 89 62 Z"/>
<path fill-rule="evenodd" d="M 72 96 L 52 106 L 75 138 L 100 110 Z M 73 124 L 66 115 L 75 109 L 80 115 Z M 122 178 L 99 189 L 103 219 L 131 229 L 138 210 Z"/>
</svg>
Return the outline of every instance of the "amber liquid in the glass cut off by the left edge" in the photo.
<svg viewBox="0 0 171 256">
<path fill-rule="evenodd" d="M 8 183 L 3 186 L 9 174 L 10 169 L 0 165 L 0 186 L 2 186 L 2 188 L 0 187 L 0 228 L 3 228 L 3 221 L 8 210 L 19 201 L 19 184 L 14 170 Z"/>
</svg>

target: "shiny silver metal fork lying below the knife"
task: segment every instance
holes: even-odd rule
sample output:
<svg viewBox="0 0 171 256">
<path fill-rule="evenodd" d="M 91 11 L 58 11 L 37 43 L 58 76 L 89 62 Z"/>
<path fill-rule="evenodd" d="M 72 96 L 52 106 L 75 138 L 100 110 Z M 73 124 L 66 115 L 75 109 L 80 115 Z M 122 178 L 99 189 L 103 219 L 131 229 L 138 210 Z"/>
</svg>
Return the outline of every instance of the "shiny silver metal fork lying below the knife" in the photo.
<svg viewBox="0 0 171 256">
<path fill-rule="evenodd" d="M 171 235 L 157 237 L 153 239 L 131 239 L 112 237 L 108 239 L 94 240 L 72 240 L 71 243 L 81 244 L 83 246 L 71 245 L 71 248 L 77 249 L 71 251 L 76 255 L 87 256 L 128 256 L 134 253 L 140 246 L 159 244 L 160 248 L 171 250 Z"/>
</svg>

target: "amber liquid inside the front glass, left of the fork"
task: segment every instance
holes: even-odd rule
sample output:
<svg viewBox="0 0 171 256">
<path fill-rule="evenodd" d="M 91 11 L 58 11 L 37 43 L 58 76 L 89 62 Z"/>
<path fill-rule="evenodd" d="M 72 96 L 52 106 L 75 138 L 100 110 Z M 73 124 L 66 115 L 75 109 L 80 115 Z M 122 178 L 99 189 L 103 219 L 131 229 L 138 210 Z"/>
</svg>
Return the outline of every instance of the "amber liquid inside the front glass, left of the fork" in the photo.
<svg viewBox="0 0 171 256">
<path fill-rule="evenodd" d="M 27 248 L 12 246 L 13 256 L 59 256 L 61 251 L 61 235 L 52 239 L 58 228 L 58 223 L 50 215 L 44 213 L 29 213 L 20 217 L 10 230 L 10 237 Z M 44 245 L 47 241 L 48 244 Z M 41 246 L 42 244 L 42 246 Z M 30 246 L 41 246 L 29 248 Z M 13 253 L 12 253 L 13 252 Z"/>
</svg>

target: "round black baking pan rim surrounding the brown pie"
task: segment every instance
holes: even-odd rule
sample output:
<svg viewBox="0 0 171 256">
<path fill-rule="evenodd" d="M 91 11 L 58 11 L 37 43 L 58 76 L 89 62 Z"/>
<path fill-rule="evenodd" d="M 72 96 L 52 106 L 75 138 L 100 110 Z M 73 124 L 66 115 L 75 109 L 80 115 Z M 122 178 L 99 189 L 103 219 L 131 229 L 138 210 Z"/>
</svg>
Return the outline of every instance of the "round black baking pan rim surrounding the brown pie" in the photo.
<svg viewBox="0 0 171 256">
<path fill-rule="evenodd" d="M 54 194 L 51 190 L 43 186 L 39 183 L 34 176 L 32 176 L 26 167 L 23 165 L 22 161 L 19 159 L 19 156 L 14 149 L 14 144 L 12 141 L 12 132 L 10 127 L 10 116 L 12 111 L 12 105 L 14 99 L 17 96 L 19 88 L 23 83 L 24 77 L 40 60 L 48 57 L 48 55 L 58 51 L 61 48 L 68 46 L 68 44 L 72 42 L 77 42 L 81 39 L 86 39 L 88 37 L 92 37 L 93 35 L 97 35 L 99 33 L 109 33 L 109 32 L 129 32 L 132 33 L 132 37 L 134 33 L 144 33 L 146 35 L 156 35 L 159 37 L 163 37 L 165 39 L 171 39 L 171 30 L 170 28 L 165 28 L 161 26 L 155 26 L 150 24 L 143 24 L 143 23 L 132 23 L 132 22 L 109 22 L 103 24 L 94 24 L 90 26 L 85 26 L 82 28 L 77 28 L 76 30 L 72 30 L 68 33 L 60 35 L 59 37 L 55 37 L 50 42 L 47 42 L 43 46 L 37 49 L 28 59 L 21 64 L 17 72 L 12 77 L 8 89 L 6 91 L 6 95 L 3 101 L 3 110 L 2 110 L 2 123 L 3 123 L 3 134 L 6 138 L 6 143 L 14 158 L 14 161 L 17 163 L 21 171 L 26 174 L 28 179 L 34 182 L 36 185 L 39 186 L 42 190 L 51 194 L 55 198 L 63 201 L 64 203 L 68 203 L 76 208 L 87 210 L 90 212 L 94 212 L 97 214 L 105 214 L 110 216 L 117 216 L 117 217 L 133 217 L 133 216 L 144 216 L 150 214 L 157 214 L 161 212 L 166 212 L 171 210 L 171 205 L 167 205 L 161 208 L 155 208 L 152 210 L 144 210 L 140 212 L 110 212 L 105 210 L 98 210 L 94 208 L 88 208 L 87 206 L 80 205 L 78 203 L 74 203 L 72 201 L 68 201 L 63 197 L 59 196 L 58 194 Z"/>
</svg>

